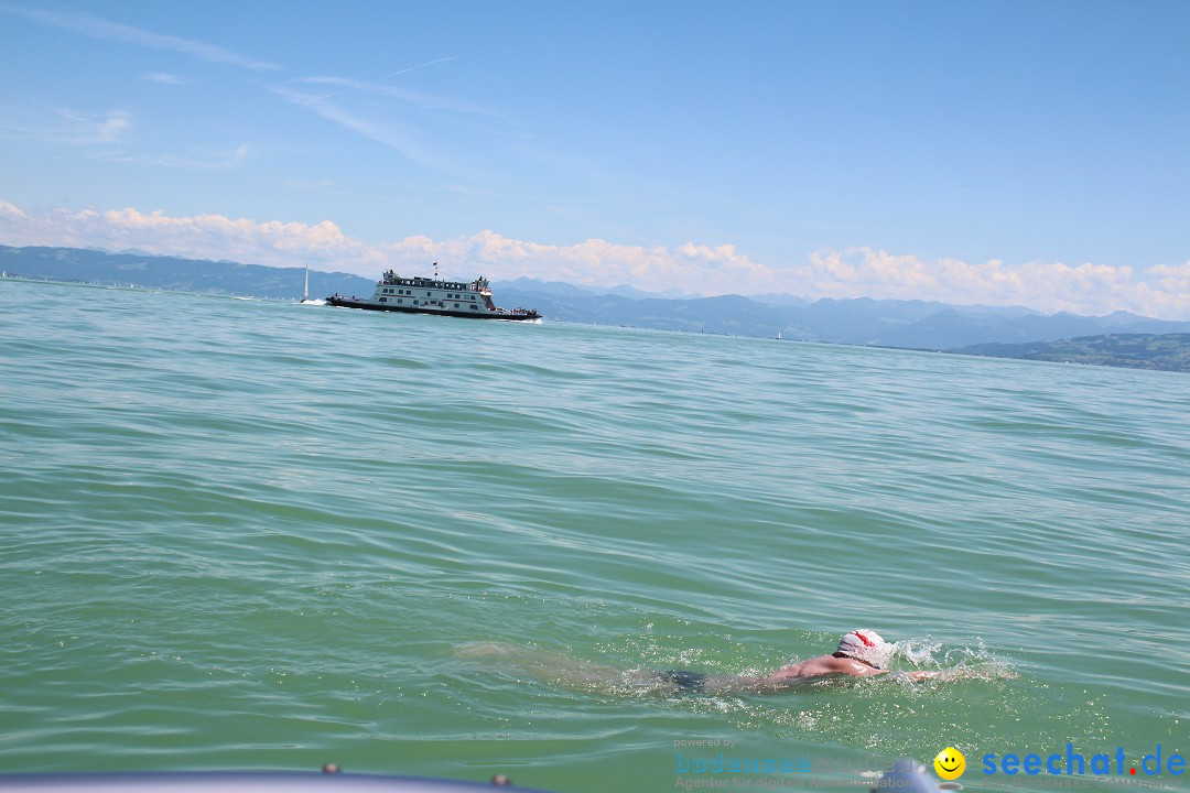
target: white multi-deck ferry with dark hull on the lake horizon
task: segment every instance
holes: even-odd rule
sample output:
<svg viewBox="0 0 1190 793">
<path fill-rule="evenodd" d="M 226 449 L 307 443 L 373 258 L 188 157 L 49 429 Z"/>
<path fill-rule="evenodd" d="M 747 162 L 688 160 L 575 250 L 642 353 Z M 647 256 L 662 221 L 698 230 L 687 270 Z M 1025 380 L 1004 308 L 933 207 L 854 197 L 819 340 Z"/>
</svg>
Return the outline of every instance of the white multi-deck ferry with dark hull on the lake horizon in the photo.
<svg viewBox="0 0 1190 793">
<path fill-rule="evenodd" d="M 405 278 L 388 270 L 376 282 L 376 291 L 371 297 L 344 297 L 336 292 L 326 298 L 326 304 L 371 311 L 462 316 L 472 320 L 541 321 L 541 315 L 533 309 L 496 308 L 491 302 L 491 287 L 483 276 L 470 283 L 439 279 L 437 262 L 433 278 Z"/>
</svg>

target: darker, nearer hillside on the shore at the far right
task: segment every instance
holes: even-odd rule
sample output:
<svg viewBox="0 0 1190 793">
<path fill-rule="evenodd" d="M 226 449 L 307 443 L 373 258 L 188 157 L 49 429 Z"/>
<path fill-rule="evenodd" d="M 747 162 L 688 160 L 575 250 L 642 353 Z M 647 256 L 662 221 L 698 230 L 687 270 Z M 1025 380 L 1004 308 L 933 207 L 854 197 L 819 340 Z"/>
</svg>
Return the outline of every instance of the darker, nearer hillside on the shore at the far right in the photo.
<svg viewBox="0 0 1190 793">
<path fill-rule="evenodd" d="M 1190 333 L 1115 333 L 1060 341 L 984 344 L 947 352 L 1100 366 L 1190 372 Z"/>
</svg>

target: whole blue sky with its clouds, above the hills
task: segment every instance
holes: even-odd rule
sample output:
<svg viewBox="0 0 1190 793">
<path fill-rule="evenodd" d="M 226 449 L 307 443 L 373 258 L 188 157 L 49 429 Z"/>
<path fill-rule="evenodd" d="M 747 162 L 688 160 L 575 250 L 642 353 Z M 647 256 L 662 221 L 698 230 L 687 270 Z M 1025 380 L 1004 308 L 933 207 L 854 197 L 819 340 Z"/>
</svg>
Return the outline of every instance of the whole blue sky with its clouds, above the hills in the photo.
<svg viewBox="0 0 1190 793">
<path fill-rule="evenodd" d="M 0 243 L 1190 319 L 1190 2 L 0 0 Z"/>
</svg>

